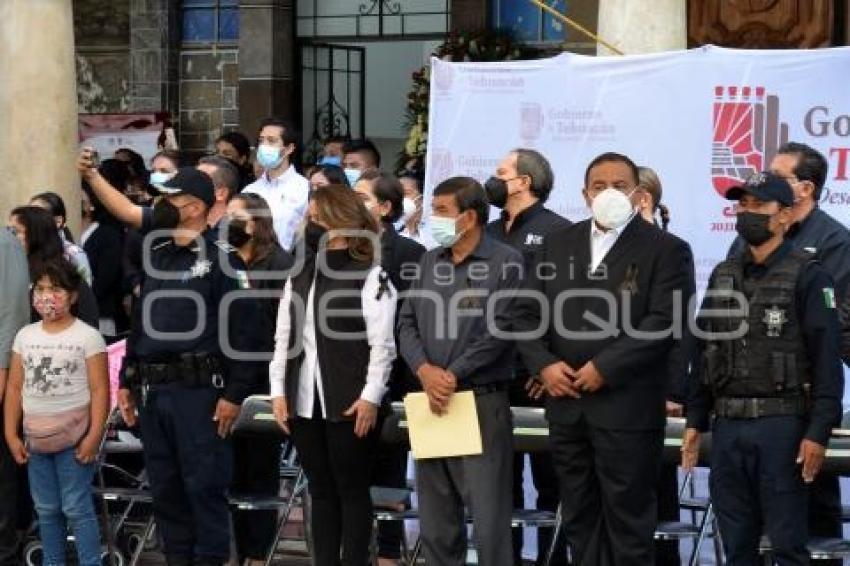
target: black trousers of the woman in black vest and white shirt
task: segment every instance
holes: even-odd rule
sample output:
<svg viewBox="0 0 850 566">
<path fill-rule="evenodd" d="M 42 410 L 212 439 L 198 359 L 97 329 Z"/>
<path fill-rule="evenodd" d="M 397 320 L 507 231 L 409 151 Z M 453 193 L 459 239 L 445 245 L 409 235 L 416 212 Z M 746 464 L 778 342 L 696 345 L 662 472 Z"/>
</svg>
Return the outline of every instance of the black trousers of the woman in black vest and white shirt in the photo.
<svg viewBox="0 0 850 566">
<path fill-rule="evenodd" d="M 313 563 L 366 566 L 372 538 L 369 486 L 377 429 L 358 438 L 352 421 L 296 418 L 291 430 L 312 502 Z"/>
</svg>

